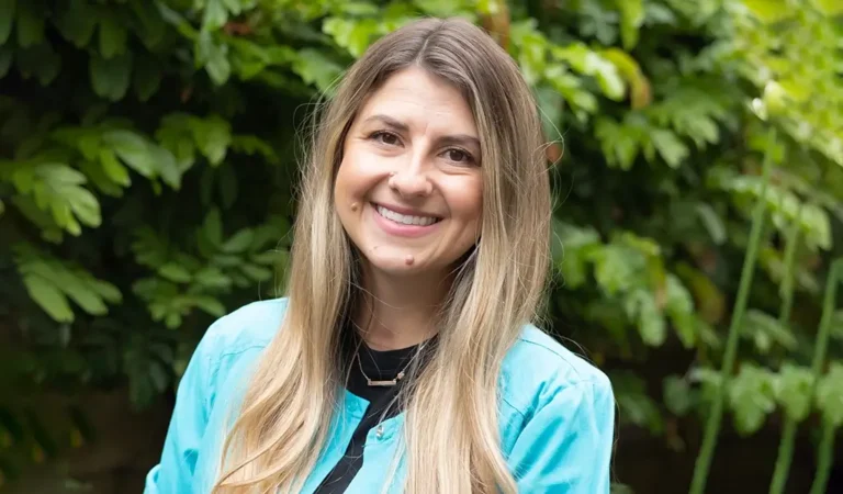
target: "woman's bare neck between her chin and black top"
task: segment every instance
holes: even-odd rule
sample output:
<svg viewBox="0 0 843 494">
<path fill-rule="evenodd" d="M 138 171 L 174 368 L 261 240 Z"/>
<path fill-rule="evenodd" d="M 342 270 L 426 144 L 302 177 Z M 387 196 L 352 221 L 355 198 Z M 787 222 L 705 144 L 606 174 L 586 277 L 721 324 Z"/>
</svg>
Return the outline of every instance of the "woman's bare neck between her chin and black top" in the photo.
<svg viewBox="0 0 843 494">
<path fill-rule="evenodd" d="M 448 291 L 441 277 L 394 277 L 364 267 L 362 278 L 355 322 L 369 347 L 407 348 L 435 335 L 434 318 Z"/>
</svg>

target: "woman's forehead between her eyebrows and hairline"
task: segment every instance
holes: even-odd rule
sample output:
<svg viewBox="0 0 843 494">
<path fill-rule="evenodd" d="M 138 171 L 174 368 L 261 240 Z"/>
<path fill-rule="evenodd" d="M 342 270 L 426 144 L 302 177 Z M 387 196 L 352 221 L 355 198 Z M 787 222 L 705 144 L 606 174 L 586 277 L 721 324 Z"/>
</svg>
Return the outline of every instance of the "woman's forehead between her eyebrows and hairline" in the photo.
<svg viewBox="0 0 843 494">
<path fill-rule="evenodd" d="M 426 127 L 477 134 L 471 106 L 462 92 L 420 67 L 392 75 L 369 97 L 360 111 L 360 120 L 374 114 L 402 121 L 411 130 Z"/>
</svg>

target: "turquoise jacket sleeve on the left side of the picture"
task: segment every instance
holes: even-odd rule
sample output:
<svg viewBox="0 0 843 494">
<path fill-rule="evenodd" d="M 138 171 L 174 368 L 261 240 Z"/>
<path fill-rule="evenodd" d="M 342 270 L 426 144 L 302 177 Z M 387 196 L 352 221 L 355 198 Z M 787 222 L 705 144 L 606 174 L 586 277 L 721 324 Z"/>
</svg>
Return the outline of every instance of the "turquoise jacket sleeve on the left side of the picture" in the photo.
<svg viewBox="0 0 843 494">
<path fill-rule="evenodd" d="M 144 494 L 193 492 L 196 457 L 210 414 L 210 378 L 213 367 L 211 333 L 209 330 L 200 341 L 179 382 L 161 458 L 146 475 Z"/>
</svg>

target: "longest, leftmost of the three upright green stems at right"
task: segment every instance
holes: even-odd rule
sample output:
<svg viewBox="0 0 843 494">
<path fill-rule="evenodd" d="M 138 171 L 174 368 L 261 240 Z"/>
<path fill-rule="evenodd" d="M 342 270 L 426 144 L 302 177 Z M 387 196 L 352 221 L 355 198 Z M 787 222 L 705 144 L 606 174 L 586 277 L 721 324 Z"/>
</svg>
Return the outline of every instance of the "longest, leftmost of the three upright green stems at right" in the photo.
<svg viewBox="0 0 843 494">
<path fill-rule="evenodd" d="M 732 314 L 732 322 L 729 326 L 729 336 L 726 343 L 726 353 L 720 369 L 721 383 L 720 389 L 715 395 L 711 404 L 711 411 L 706 422 L 706 430 L 702 436 L 702 446 L 700 448 L 697 462 L 694 468 L 694 479 L 690 483 L 690 494 L 702 494 L 706 490 L 706 480 L 711 467 L 711 458 L 717 446 L 717 436 L 720 431 L 720 423 L 723 418 L 723 404 L 726 402 L 729 377 L 734 366 L 735 353 L 738 352 L 738 340 L 740 336 L 741 324 L 743 323 L 743 313 L 746 311 L 746 300 L 750 293 L 750 285 L 755 273 L 755 262 L 757 260 L 758 244 L 761 234 L 764 229 L 764 220 L 767 210 L 767 187 L 769 184 L 769 171 L 773 168 L 773 146 L 775 144 L 775 127 L 769 128 L 767 136 L 767 149 L 764 153 L 764 166 L 761 179 L 761 195 L 755 203 L 752 214 L 752 229 L 750 232 L 750 245 L 746 248 L 746 255 L 743 260 L 741 271 L 741 282 L 738 288 L 738 299 Z"/>
</svg>

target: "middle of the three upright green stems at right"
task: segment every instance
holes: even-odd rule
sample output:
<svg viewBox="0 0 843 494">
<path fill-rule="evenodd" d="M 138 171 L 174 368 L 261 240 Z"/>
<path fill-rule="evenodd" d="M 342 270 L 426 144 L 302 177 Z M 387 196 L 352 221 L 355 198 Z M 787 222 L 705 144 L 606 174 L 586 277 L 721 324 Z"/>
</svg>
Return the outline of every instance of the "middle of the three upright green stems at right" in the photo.
<svg viewBox="0 0 843 494">
<path fill-rule="evenodd" d="M 786 325 L 790 319 L 790 311 L 794 306 L 794 265 L 796 260 L 796 247 L 799 243 L 799 221 L 801 220 L 802 204 L 796 221 L 787 232 L 787 246 L 785 247 L 785 274 L 782 279 L 782 310 L 778 313 L 778 322 Z M 785 425 L 782 428 L 782 441 L 778 444 L 776 469 L 773 471 L 773 481 L 769 483 L 769 494 L 782 494 L 787 485 L 787 475 L 790 472 L 790 463 L 794 459 L 794 444 L 796 444 L 796 430 L 798 423 L 795 417 L 785 413 Z"/>
</svg>

